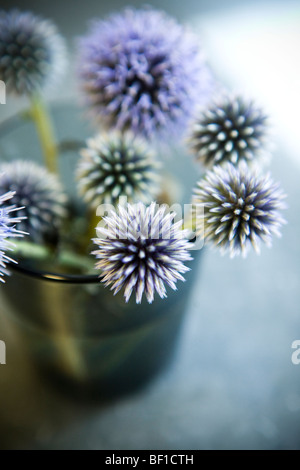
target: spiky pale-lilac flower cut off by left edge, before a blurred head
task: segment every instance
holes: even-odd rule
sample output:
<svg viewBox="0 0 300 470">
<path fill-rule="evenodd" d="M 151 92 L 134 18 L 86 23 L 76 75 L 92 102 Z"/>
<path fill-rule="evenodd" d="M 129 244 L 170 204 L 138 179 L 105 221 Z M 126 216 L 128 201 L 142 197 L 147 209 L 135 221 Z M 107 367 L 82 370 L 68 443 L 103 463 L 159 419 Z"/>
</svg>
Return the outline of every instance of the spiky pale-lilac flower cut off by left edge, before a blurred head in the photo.
<svg viewBox="0 0 300 470">
<path fill-rule="evenodd" d="M 17 217 L 16 212 L 18 208 L 11 205 L 11 201 L 14 197 L 14 192 L 9 191 L 0 196 L 0 282 L 4 282 L 3 275 L 8 274 L 6 269 L 7 263 L 15 263 L 15 261 L 9 257 L 7 251 L 13 250 L 13 243 L 10 238 L 22 237 L 23 232 L 16 229 L 16 224 L 21 222 L 21 218 Z"/>
</svg>

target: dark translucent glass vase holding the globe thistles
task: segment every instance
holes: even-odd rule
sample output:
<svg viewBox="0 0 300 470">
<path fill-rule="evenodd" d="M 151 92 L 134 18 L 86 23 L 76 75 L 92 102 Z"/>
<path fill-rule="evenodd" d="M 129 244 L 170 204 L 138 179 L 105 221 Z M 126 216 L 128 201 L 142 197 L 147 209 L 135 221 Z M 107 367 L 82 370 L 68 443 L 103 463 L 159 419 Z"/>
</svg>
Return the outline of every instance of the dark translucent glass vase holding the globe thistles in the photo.
<svg viewBox="0 0 300 470">
<path fill-rule="evenodd" d="M 64 147 L 61 172 L 74 200 L 72 175 L 78 159 L 78 142 L 88 129 L 75 106 L 54 108 L 58 139 Z M 73 137 L 76 136 L 76 142 Z M 39 143 L 30 122 L 19 118 L 0 126 L 2 160 L 22 158 L 41 162 Z M 176 153 L 176 149 L 174 149 Z M 167 159 L 172 174 L 188 198 L 196 175 L 187 157 Z M 188 199 L 187 199 L 188 202 Z M 192 268 L 199 259 L 193 251 Z M 53 271 L 53 270 L 50 270 Z M 125 304 L 112 295 L 96 276 L 39 272 L 30 262 L 14 268 L 0 289 L 1 310 L 14 323 L 40 372 L 72 395 L 112 397 L 145 385 L 170 363 L 178 342 L 194 270 L 168 298 L 153 304 Z M 3 312 L 2 312 L 3 313 Z M 25 346 L 24 346 L 25 345 Z"/>
</svg>

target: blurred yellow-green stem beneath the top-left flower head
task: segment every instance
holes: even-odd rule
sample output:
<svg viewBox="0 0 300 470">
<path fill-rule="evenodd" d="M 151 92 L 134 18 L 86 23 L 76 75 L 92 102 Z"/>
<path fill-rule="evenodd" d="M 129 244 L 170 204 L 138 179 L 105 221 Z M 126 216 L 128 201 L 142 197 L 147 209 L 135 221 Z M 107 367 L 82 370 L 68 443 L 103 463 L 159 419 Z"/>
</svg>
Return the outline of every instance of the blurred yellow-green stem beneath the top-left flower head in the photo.
<svg viewBox="0 0 300 470">
<path fill-rule="evenodd" d="M 46 167 L 51 173 L 58 173 L 58 152 L 51 118 L 39 95 L 32 95 L 30 99 L 31 118 L 36 125 Z"/>
</svg>

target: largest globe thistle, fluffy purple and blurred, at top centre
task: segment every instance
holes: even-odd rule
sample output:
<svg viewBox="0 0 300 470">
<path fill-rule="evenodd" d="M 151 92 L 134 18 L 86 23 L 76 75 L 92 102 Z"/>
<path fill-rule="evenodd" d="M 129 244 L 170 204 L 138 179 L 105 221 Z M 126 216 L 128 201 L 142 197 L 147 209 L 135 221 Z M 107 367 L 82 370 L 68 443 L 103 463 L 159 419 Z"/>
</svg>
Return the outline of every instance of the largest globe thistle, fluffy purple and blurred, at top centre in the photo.
<svg viewBox="0 0 300 470">
<path fill-rule="evenodd" d="M 126 9 L 96 22 L 80 48 L 83 91 L 109 128 L 147 137 L 181 130 L 212 90 L 198 39 L 160 11 Z"/>
</svg>

